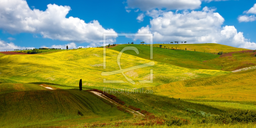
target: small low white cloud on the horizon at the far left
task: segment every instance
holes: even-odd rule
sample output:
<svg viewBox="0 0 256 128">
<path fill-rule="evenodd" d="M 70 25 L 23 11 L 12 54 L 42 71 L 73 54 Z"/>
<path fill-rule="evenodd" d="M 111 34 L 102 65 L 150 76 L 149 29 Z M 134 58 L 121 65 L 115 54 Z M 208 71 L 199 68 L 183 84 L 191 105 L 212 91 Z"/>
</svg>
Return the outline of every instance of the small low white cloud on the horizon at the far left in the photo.
<svg viewBox="0 0 256 128">
<path fill-rule="evenodd" d="M 20 47 L 15 45 L 14 43 L 6 43 L 2 40 L 0 40 L 0 52 L 4 51 L 13 51 L 14 49 L 33 49 L 34 47 Z"/>
</svg>

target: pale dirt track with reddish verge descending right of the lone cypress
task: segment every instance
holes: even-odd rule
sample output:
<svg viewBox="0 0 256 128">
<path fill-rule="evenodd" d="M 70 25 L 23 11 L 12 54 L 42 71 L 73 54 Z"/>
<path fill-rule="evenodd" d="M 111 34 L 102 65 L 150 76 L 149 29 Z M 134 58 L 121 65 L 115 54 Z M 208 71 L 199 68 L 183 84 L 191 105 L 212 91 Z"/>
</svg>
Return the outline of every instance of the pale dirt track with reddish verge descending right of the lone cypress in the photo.
<svg viewBox="0 0 256 128">
<path fill-rule="evenodd" d="M 97 96 L 99 96 L 99 97 L 101 97 L 101 98 L 103 98 L 103 99 L 105 99 L 105 100 L 108 100 L 108 101 L 111 102 L 111 103 L 116 104 L 117 106 L 123 107 L 123 108 L 126 109 L 127 111 L 131 112 L 134 116 L 144 116 L 144 115 L 141 114 L 140 112 L 134 111 L 134 110 L 132 110 L 131 108 L 125 107 L 124 105 L 121 105 L 121 104 L 117 103 L 116 101 L 114 101 L 114 100 L 112 100 L 112 99 L 106 97 L 105 95 L 102 95 L 102 94 L 99 93 L 99 92 L 94 92 L 94 91 L 90 91 L 90 92 L 94 93 L 95 95 L 97 95 Z"/>
</svg>

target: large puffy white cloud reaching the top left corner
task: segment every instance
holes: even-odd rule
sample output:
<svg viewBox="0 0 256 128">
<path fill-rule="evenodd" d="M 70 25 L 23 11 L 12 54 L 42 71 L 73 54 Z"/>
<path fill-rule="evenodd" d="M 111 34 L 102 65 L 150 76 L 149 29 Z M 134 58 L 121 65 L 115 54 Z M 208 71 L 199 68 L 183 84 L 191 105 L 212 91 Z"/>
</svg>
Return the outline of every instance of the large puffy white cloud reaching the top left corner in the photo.
<svg viewBox="0 0 256 128">
<path fill-rule="evenodd" d="M 48 4 L 45 11 L 31 10 L 25 0 L 0 1 L 0 28 L 9 33 L 40 33 L 44 38 L 70 42 L 102 42 L 103 33 L 116 33 L 103 28 L 97 20 L 84 20 L 66 15 L 69 6 Z M 108 42 L 115 42 L 116 37 Z"/>
</svg>

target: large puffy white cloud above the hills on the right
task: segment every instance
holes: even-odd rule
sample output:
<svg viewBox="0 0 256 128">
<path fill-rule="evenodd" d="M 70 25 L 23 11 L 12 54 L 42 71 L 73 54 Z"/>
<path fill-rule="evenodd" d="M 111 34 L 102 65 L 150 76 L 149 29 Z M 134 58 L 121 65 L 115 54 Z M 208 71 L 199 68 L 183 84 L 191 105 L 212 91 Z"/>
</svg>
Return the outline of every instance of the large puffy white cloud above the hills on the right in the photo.
<svg viewBox="0 0 256 128">
<path fill-rule="evenodd" d="M 218 43 L 256 49 L 256 44 L 245 39 L 243 33 L 237 32 L 234 26 L 221 27 L 224 18 L 214 11 L 204 7 L 202 11 L 156 13 L 159 16 L 155 15 L 150 21 L 151 27 L 142 27 L 138 33 L 153 33 L 154 42 L 158 43 L 187 41 L 194 44 Z M 137 39 L 134 38 L 135 40 Z"/>
</svg>

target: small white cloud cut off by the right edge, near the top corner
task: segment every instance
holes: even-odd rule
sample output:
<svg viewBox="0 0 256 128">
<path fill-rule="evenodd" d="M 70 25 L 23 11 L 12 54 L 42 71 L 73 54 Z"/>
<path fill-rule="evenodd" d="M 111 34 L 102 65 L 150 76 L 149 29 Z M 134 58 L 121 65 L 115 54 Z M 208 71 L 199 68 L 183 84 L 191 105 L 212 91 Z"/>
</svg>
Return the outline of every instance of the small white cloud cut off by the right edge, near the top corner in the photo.
<svg viewBox="0 0 256 128">
<path fill-rule="evenodd" d="M 254 4 L 253 7 L 250 8 L 248 11 L 244 11 L 244 13 L 246 13 L 246 14 L 256 14 L 256 4 Z M 239 22 L 249 22 L 249 21 L 252 22 L 254 20 L 256 20 L 255 15 L 251 15 L 251 16 L 242 15 L 242 16 L 238 17 Z"/>
</svg>

